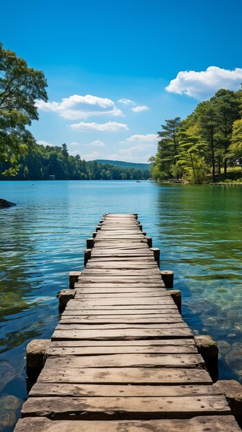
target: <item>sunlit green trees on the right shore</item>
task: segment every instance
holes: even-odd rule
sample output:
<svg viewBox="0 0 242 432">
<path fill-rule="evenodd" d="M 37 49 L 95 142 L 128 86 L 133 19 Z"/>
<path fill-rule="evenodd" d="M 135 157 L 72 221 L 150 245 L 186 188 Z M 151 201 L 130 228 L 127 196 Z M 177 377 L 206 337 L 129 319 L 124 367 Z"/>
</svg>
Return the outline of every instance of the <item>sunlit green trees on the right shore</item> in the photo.
<svg viewBox="0 0 242 432">
<path fill-rule="evenodd" d="M 242 90 L 221 89 L 184 120 L 165 120 L 157 154 L 150 158 L 155 180 L 202 184 L 226 178 L 242 163 Z"/>
</svg>

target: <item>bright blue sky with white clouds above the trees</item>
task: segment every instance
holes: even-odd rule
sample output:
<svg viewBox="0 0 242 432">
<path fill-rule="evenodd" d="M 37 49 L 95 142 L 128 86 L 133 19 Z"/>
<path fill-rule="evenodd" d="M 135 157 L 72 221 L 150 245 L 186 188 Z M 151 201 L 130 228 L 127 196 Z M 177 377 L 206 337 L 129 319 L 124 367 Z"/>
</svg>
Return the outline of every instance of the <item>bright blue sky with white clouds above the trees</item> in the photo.
<svg viewBox="0 0 242 432">
<path fill-rule="evenodd" d="M 0 40 L 48 79 L 31 131 L 86 160 L 146 162 L 165 119 L 240 88 L 241 0 L 13 0 Z"/>
</svg>

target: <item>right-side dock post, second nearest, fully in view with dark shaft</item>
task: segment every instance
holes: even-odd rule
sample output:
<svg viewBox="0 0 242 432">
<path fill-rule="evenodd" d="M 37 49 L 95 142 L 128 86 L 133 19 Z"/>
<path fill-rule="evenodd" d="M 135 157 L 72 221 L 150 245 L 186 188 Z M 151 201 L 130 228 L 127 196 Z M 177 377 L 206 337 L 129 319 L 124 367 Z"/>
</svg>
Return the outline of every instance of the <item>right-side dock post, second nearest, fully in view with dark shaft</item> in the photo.
<svg viewBox="0 0 242 432">
<path fill-rule="evenodd" d="M 197 351 L 199 351 L 199 354 L 203 357 L 205 366 L 210 373 L 210 377 L 213 382 L 215 382 L 218 379 L 219 373 L 219 350 L 216 342 L 210 335 L 194 336 L 194 340 Z"/>
</svg>

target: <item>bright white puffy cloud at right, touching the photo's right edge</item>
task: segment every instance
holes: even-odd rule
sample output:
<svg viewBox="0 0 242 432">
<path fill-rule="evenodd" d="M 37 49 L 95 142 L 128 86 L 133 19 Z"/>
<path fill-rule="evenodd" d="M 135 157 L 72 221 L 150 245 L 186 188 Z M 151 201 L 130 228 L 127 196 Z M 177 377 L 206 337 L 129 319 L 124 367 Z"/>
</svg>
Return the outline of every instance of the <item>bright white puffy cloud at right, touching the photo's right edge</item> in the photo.
<svg viewBox="0 0 242 432">
<path fill-rule="evenodd" d="M 211 97 L 220 88 L 239 90 L 241 80 L 242 68 L 228 70 L 210 66 L 201 72 L 194 70 L 179 72 L 177 78 L 172 79 L 165 90 L 203 100 Z"/>
</svg>

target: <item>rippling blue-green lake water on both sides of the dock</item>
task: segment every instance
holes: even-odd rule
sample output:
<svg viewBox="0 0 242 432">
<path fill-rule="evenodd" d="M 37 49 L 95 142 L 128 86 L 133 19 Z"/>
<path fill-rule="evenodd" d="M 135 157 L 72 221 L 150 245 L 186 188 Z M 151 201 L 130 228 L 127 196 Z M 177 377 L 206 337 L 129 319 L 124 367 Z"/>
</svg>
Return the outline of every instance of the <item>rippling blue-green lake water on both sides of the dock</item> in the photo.
<svg viewBox="0 0 242 432">
<path fill-rule="evenodd" d="M 85 239 L 103 213 L 139 213 L 175 273 L 183 317 L 219 343 L 221 379 L 242 376 L 242 188 L 162 186 L 148 181 L 1 181 L 0 431 L 26 398 L 25 348 L 50 338 L 56 294 L 83 268 Z"/>
</svg>

